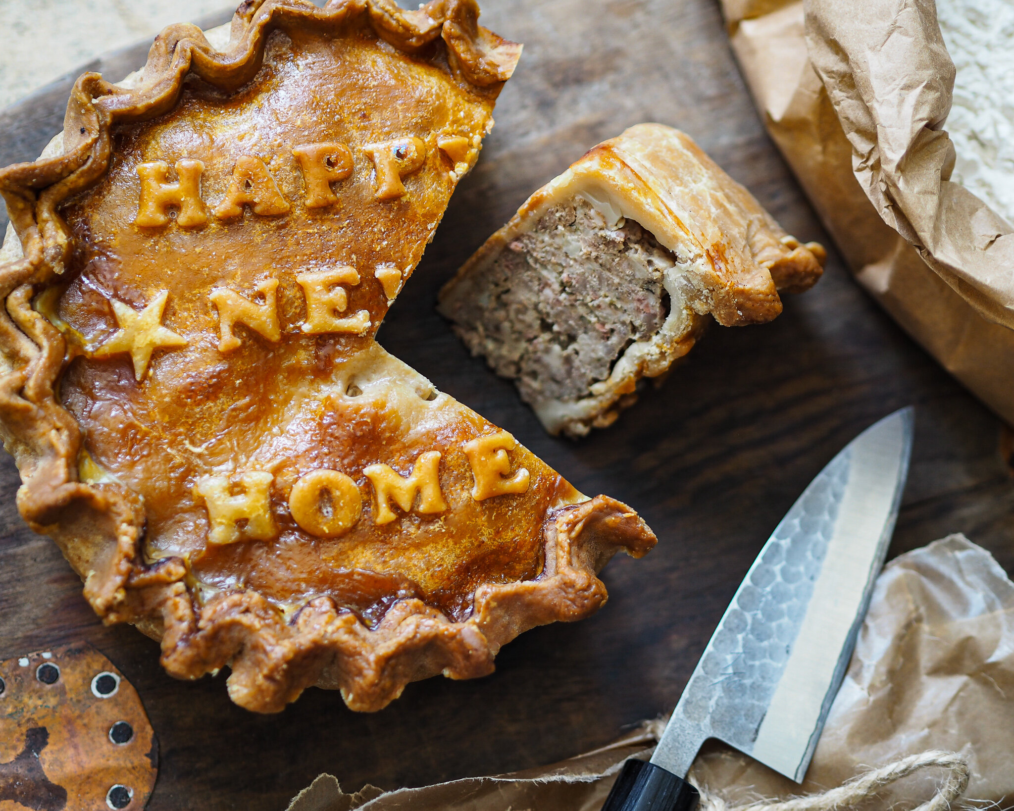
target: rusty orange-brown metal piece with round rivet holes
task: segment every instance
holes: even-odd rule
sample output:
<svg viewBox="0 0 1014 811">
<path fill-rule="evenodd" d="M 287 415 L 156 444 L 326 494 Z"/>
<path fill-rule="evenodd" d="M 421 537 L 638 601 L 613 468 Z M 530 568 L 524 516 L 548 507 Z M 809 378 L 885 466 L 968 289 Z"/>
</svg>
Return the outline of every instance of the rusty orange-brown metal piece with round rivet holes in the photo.
<svg viewBox="0 0 1014 811">
<path fill-rule="evenodd" d="M 87 644 L 0 662 L 0 811 L 141 811 L 158 742 L 137 691 Z"/>
</svg>

